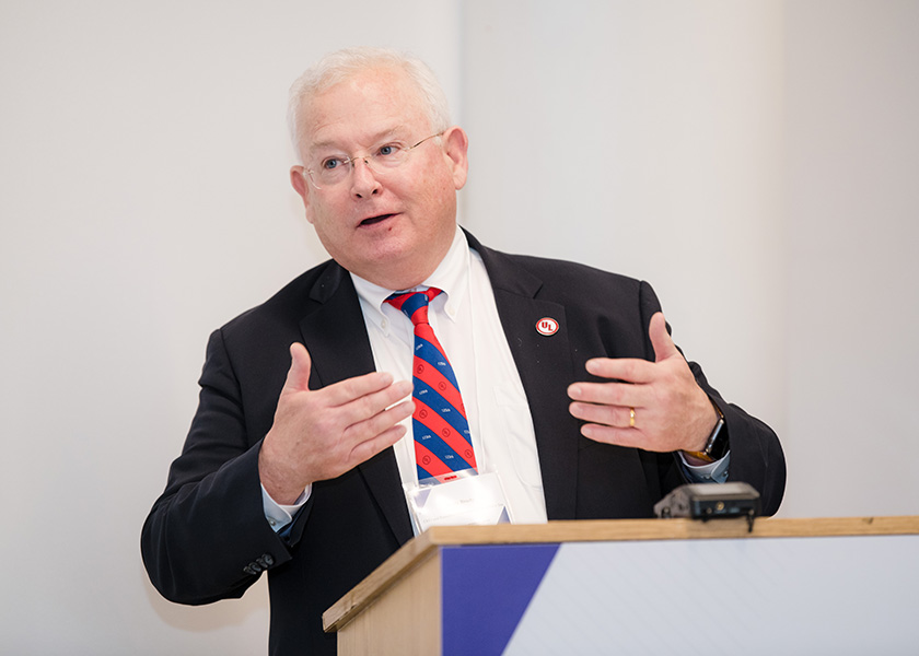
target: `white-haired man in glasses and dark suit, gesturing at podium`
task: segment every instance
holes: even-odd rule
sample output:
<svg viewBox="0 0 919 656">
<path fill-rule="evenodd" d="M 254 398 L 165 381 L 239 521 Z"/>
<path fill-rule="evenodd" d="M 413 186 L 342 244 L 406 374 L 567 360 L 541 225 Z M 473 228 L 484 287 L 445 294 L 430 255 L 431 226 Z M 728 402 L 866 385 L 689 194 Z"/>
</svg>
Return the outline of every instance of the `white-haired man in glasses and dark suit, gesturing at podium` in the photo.
<svg viewBox="0 0 919 656">
<path fill-rule="evenodd" d="M 687 364 L 647 283 L 457 227 L 467 138 L 427 67 L 334 54 L 294 84 L 290 122 L 291 181 L 333 260 L 211 336 L 143 528 L 165 597 L 239 597 L 267 570 L 271 653 L 335 653 L 322 612 L 424 525 L 412 323 L 394 292 L 434 290 L 474 478 L 500 481 L 508 519 L 649 517 L 678 484 L 728 477 L 775 513 L 778 440 Z"/>
</svg>

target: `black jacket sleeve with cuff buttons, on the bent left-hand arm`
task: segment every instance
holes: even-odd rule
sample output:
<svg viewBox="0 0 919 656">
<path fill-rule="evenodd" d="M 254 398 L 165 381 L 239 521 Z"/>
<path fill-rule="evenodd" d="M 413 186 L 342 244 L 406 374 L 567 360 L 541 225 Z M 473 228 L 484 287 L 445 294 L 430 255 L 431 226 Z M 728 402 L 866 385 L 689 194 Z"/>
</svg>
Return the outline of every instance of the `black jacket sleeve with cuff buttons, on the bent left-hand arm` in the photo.
<svg viewBox="0 0 919 656">
<path fill-rule="evenodd" d="M 263 435 L 251 434 L 220 330 L 211 335 L 199 384 L 182 455 L 141 534 L 150 581 L 182 604 L 240 597 L 263 571 L 291 559 L 265 518 L 258 478 Z"/>
</svg>

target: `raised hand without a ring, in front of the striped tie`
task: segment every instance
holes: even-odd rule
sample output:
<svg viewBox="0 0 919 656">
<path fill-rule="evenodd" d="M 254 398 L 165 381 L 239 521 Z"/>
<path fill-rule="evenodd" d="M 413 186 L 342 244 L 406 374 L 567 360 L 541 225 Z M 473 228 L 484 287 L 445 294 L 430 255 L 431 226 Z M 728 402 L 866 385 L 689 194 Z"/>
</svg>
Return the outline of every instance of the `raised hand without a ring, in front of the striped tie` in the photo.
<svg viewBox="0 0 919 656">
<path fill-rule="evenodd" d="M 411 415 L 408 380 L 373 372 L 312 390 L 310 352 L 290 347 L 291 365 L 275 411 L 275 423 L 258 456 L 258 476 L 268 494 L 282 505 L 293 504 L 315 481 L 340 476 L 394 445 Z M 389 408 L 392 406 L 392 408 Z M 388 408 L 388 410 L 387 410 Z"/>
</svg>

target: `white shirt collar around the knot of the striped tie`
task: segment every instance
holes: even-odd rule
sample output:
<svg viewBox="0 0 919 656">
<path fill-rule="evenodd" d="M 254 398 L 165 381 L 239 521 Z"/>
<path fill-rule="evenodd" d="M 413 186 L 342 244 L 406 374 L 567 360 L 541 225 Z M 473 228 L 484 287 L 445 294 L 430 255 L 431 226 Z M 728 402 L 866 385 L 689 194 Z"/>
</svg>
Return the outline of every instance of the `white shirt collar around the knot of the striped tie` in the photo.
<svg viewBox="0 0 919 656">
<path fill-rule="evenodd" d="M 388 332 L 385 321 L 387 311 L 384 307 L 395 311 L 392 305 L 386 303 L 386 298 L 397 291 L 423 291 L 428 288 L 437 288 L 443 291 L 443 294 L 434 298 L 433 305 L 442 307 L 443 313 L 451 320 L 455 320 L 469 289 L 469 244 L 466 241 L 466 234 L 457 225 L 453 243 L 441 263 L 421 284 L 411 290 L 389 290 L 353 273 L 350 273 L 350 276 L 354 283 L 354 290 L 358 292 L 364 317 L 381 327 L 384 332 Z M 445 297 L 445 300 L 441 301 L 442 297 Z"/>
</svg>

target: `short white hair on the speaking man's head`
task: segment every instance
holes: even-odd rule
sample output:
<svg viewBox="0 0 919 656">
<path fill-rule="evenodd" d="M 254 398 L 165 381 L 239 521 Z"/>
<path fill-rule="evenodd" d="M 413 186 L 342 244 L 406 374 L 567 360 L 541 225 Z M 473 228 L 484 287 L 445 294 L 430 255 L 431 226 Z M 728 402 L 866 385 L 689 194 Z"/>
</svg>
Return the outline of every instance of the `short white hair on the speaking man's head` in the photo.
<svg viewBox="0 0 919 656">
<path fill-rule="evenodd" d="M 288 96 L 288 130 L 296 157 L 300 157 L 299 125 L 303 107 L 316 95 L 356 73 L 373 68 L 395 68 L 408 74 L 421 102 L 427 106 L 431 130 L 441 132 L 451 125 L 450 104 L 434 72 L 411 55 L 389 48 L 358 47 L 337 50 L 323 57 L 298 78 Z"/>
</svg>

